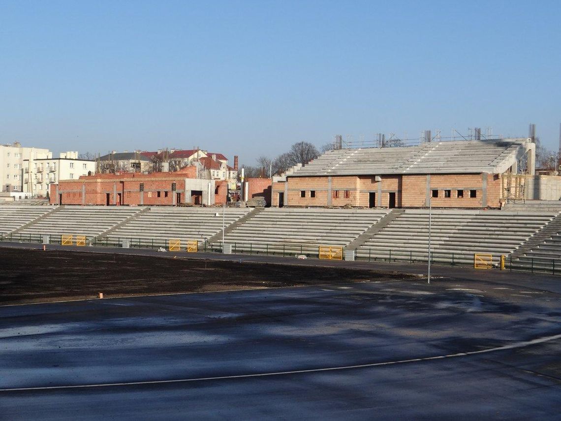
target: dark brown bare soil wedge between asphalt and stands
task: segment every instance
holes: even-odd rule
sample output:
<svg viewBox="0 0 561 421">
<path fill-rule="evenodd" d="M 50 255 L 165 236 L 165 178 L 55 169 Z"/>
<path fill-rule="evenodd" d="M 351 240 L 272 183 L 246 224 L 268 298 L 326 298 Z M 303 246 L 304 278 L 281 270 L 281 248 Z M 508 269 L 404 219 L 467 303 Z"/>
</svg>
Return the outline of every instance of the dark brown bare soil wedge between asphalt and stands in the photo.
<svg viewBox="0 0 561 421">
<path fill-rule="evenodd" d="M 0 305 L 390 280 L 401 274 L 61 250 L 0 249 Z"/>
</svg>

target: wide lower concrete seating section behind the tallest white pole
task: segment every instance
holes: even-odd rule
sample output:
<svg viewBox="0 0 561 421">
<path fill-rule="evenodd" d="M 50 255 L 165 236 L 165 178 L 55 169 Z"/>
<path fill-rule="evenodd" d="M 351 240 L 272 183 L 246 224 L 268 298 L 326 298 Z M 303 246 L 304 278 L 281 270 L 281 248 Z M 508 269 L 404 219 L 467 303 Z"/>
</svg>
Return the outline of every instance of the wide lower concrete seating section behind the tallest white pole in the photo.
<svg viewBox="0 0 561 421">
<path fill-rule="evenodd" d="M 554 213 L 433 211 L 431 253 L 435 261 L 473 262 L 474 253 L 512 253 L 555 217 Z M 407 209 L 357 249 L 358 258 L 427 260 L 429 211 Z M 453 257 L 452 257 L 453 254 Z"/>
</svg>

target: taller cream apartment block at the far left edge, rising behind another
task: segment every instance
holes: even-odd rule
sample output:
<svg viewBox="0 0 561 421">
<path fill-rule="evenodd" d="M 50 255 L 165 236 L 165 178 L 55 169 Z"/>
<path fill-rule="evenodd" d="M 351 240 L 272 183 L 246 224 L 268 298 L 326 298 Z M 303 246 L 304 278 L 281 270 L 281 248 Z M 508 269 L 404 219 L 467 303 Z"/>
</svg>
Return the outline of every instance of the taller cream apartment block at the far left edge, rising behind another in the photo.
<svg viewBox="0 0 561 421">
<path fill-rule="evenodd" d="M 19 142 L 0 145 L 0 191 L 10 195 L 21 193 L 23 186 L 23 164 L 25 159 L 51 158 L 48 149 L 22 148 Z"/>
</svg>

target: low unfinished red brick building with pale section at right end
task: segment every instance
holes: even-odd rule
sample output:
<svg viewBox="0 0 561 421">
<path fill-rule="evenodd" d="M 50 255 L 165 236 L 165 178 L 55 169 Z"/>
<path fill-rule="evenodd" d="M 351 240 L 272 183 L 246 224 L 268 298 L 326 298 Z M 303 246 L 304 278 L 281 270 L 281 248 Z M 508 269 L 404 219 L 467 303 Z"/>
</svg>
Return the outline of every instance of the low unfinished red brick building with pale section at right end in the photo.
<svg viewBox="0 0 561 421">
<path fill-rule="evenodd" d="M 196 178 L 195 167 L 177 172 L 81 176 L 50 185 L 51 204 L 214 205 L 226 202 L 227 181 Z"/>
</svg>

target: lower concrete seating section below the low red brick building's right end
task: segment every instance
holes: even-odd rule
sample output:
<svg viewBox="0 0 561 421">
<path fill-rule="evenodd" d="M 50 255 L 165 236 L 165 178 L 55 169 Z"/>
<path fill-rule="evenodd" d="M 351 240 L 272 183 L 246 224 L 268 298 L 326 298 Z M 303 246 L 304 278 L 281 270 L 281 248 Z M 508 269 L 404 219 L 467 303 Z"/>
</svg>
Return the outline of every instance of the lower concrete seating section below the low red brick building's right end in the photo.
<svg viewBox="0 0 561 421">
<path fill-rule="evenodd" d="M 243 217 L 251 209 L 226 208 L 224 226 L 228 227 Z M 117 245 L 122 240 L 129 240 L 135 247 L 166 247 L 169 239 L 182 241 L 182 248 L 187 240 L 204 242 L 222 231 L 223 208 L 150 208 L 109 233 L 102 242 Z"/>
</svg>

